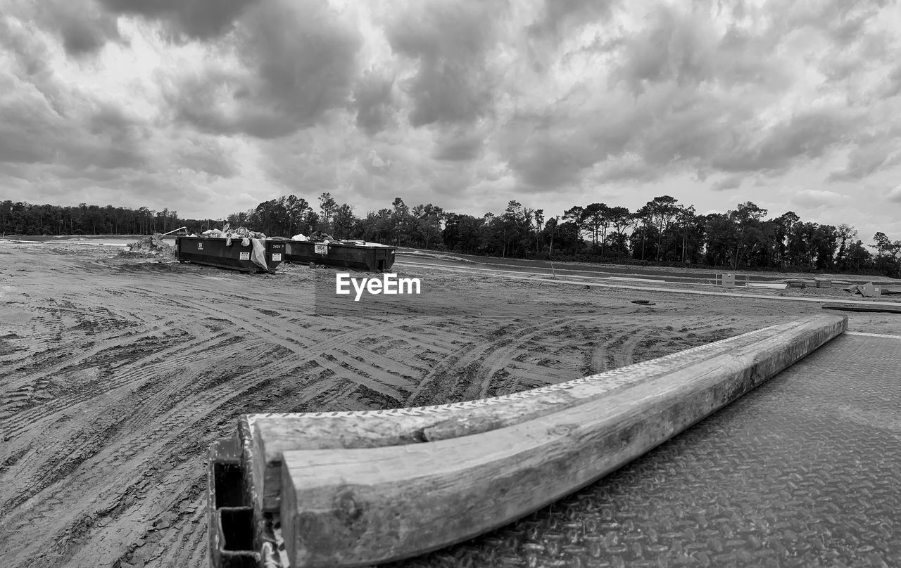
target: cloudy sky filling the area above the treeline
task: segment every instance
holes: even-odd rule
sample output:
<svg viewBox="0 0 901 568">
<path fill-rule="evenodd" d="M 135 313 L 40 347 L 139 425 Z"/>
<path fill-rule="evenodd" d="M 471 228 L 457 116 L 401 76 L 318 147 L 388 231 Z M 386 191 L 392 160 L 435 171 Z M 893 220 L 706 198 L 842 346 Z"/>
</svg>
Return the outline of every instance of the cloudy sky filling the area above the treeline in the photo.
<svg viewBox="0 0 901 568">
<path fill-rule="evenodd" d="M 891 2 L 0 0 L 0 199 L 669 194 L 901 239 L 899 53 Z"/>
</svg>

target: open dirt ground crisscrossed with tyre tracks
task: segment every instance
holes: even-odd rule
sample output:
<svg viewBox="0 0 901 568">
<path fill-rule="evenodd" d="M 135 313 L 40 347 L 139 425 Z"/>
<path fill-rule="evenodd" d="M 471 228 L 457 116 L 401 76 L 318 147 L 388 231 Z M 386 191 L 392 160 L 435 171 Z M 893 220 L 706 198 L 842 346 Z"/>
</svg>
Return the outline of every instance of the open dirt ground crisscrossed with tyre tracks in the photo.
<svg viewBox="0 0 901 568">
<path fill-rule="evenodd" d="M 242 275 L 118 252 L 0 242 L 3 566 L 205 566 L 205 452 L 242 413 L 475 399 L 821 311 L 398 265 L 443 310 L 326 317 L 310 291 L 327 268 Z M 455 314 L 464 303 L 485 314 Z M 897 314 L 850 317 L 901 330 Z"/>
</svg>

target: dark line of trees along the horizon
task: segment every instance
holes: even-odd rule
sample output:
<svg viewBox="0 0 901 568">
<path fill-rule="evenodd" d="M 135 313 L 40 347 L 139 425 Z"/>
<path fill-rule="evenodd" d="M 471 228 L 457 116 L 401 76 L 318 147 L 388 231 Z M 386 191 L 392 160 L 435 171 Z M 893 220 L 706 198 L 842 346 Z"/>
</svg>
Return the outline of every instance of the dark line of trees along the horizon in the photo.
<svg viewBox="0 0 901 568">
<path fill-rule="evenodd" d="M 501 213 L 481 217 L 445 212 L 432 203 L 409 207 L 397 197 L 390 207 L 357 216 L 331 194 L 314 206 L 287 195 L 259 203 L 224 220 L 179 219 L 177 212 L 132 210 L 81 203 L 77 207 L 0 202 L 5 234 L 148 234 L 185 225 L 190 232 L 223 222 L 268 235 L 291 237 L 322 230 L 336 239 L 365 239 L 398 247 L 463 254 L 616 262 L 718 266 L 733 270 L 797 270 L 901 277 L 901 240 L 883 232 L 865 245 L 847 224 L 802 221 L 795 212 L 768 219 L 754 203 L 727 212 L 697 214 L 694 206 L 669 195 L 654 197 L 635 211 L 605 203 L 574 205 L 546 217 L 511 201 Z"/>
</svg>

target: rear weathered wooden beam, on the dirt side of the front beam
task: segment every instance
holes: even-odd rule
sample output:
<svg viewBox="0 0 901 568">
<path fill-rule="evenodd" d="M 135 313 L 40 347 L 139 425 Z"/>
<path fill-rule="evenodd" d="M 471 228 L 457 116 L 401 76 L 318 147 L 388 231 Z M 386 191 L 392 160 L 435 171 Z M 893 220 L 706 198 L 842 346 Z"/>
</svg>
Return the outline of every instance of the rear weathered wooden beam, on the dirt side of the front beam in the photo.
<svg viewBox="0 0 901 568">
<path fill-rule="evenodd" d="M 253 445 L 250 454 L 254 456 L 250 476 L 255 506 L 260 510 L 278 510 L 285 451 L 416 444 L 503 428 L 565 410 L 714 356 L 731 356 L 761 341 L 781 345 L 786 338 L 820 329 L 826 321 L 823 318 L 790 321 L 637 365 L 481 401 L 370 412 L 252 414 L 248 420 Z M 836 335 L 847 326 L 847 319 L 842 320 L 840 316 L 828 321 Z"/>
</svg>

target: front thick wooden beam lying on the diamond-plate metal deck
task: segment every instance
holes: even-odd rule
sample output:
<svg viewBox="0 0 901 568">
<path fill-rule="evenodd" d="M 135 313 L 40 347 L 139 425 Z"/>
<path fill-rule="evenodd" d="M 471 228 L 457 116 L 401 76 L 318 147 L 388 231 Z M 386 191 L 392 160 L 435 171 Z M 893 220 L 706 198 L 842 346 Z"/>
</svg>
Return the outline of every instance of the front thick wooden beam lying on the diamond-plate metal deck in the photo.
<svg viewBox="0 0 901 568">
<path fill-rule="evenodd" d="M 471 436 L 284 452 L 280 517 L 291 565 L 389 562 L 502 527 L 722 408 L 846 322 L 821 318 L 790 338 L 767 338 L 566 411 Z"/>
</svg>

